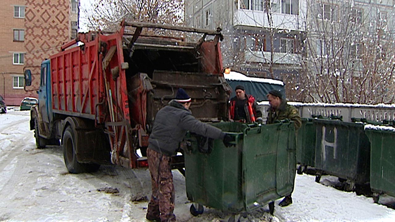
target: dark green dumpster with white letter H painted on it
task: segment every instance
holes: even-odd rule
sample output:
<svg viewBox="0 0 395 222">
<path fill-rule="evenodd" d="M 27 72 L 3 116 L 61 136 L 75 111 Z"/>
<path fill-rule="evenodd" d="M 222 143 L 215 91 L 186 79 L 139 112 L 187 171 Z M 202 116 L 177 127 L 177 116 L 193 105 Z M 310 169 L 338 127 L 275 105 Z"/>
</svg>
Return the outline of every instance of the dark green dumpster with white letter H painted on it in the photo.
<svg viewBox="0 0 395 222">
<path fill-rule="evenodd" d="M 314 167 L 347 180 L 345 190 L 369 182 L 370 142 L 365 124 L 322 119 L 314 119 L 313 124 L 317 130 Z"/>
</svg>

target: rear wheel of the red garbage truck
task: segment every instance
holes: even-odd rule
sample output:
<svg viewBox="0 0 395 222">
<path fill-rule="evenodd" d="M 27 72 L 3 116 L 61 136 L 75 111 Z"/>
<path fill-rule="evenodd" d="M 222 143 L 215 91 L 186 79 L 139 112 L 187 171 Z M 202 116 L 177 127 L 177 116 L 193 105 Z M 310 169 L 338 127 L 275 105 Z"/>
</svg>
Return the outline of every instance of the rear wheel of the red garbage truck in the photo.
<svg viewBox="0 0 395 222">
<path fill-rule="evenodd" d="M 66 164 L 67 170 L 70 173 L 87 173 L 97 171 L 100 167 L 99 164 L 80 163 L 77 161 L 75 147 L 78 145 L 74 130 L 68 126 L 63 133 L 62 140 L 64 163 Z"/>
</svg>

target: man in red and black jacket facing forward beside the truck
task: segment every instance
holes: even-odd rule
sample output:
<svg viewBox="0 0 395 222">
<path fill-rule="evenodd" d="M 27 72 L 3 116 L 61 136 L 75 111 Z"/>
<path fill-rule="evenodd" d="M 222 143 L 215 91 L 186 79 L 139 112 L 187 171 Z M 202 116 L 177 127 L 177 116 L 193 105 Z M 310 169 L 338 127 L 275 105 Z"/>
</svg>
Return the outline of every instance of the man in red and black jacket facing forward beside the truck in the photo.
<svg viewBox="0 0 395 222">
<path fill-rule="evenodd" d="M 262 122 L 262 112 L 254 96 L 247 95 L 242 85 L 235 88 L 235 93 L 230 99 L 229 118 L 237 122 Z"/>
</svg>

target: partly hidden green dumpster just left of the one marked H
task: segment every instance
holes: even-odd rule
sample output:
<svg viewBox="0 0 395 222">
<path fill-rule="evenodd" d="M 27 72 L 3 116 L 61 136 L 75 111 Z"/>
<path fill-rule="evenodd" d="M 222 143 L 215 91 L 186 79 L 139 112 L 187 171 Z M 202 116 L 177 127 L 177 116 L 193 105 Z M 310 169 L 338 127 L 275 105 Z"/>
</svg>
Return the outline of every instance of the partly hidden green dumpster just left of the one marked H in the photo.
<svg viewBox="0 0 395 222">
<path fill-rule="evenodd" d="M 300 164 L 298 173 L 303 173 L 307 166 L 314 167 L 316 152 L 316 127 L 313 119 L 302 118 L 302 126 L 297 130 L 296 162 Z M 302 169 L 303 166 L 305 169 Z"/>
</svg>

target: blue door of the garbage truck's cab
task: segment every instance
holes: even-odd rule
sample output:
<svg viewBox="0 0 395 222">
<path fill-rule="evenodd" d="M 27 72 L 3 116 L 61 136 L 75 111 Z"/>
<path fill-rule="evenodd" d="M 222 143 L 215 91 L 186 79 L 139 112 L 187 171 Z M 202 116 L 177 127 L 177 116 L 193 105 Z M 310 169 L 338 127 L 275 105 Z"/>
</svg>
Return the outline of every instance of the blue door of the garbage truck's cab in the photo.
<svg viewBox="0 0 395 222">
<path fill-rule="evenodd" d="M 49 77 L 49 60 L 43 61 L 41 64 L 41 74 L 40 74 L 40 88 L 38 90 L 38 109 L 40 111 L 41 117 L 44 122 L 49 123 L 49 102 L 51 90 L 48 90 L 47 85 Z"/>
</svg>

